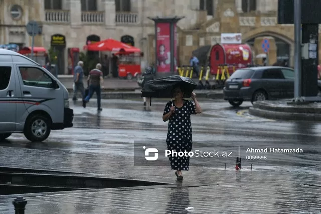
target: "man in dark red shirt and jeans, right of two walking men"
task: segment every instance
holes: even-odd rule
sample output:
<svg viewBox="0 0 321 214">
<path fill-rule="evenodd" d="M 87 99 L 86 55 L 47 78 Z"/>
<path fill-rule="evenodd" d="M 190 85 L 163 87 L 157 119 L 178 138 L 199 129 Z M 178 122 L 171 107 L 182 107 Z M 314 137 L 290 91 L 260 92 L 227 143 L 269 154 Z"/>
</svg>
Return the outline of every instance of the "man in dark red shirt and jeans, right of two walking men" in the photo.
<svg viewBox="0 0 321 214">
<path fill-rule="evenodd" d="M 97 107 L 98 111 L 102 111 L 101 108 L 101 88 L 103 88 L 104 78 L 103 73 L 101 71 L 101 64 L 98 63 L 96 68 L 91 70 L 88 75 L 87 81 L 89 82 L 89 94 L 84 99 L 83 107 L 86 108 L 86 103 L 91 99 L 94 92 L 97 95 Z"/>
</svg>

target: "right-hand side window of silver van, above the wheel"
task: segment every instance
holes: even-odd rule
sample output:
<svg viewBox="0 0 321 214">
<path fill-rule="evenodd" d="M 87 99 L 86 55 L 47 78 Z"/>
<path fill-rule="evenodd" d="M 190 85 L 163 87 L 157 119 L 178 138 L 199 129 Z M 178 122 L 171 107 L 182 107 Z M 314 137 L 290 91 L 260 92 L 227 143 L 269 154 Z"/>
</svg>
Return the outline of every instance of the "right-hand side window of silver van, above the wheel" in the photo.
<svg viewBox="0 0 321 214">
<path fill-rule="evenodd" d="M 41 69 L 35 67 L 19 67 L 24 85 L 52 88 L 52 79 Z"/>
</svg>

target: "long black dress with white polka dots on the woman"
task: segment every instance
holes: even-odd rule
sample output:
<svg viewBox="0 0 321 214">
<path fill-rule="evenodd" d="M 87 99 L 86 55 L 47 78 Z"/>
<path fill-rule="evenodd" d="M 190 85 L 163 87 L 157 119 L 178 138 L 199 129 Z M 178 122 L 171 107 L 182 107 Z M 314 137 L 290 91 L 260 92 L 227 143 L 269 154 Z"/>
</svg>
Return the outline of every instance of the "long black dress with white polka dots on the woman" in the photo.
<svg viewBox="0 0 321 214">
<path fill-rule="evenodd" d="M 174 103 L 173 103 L 174 104 Z M 165 106 L 163 115 L 170 112 L 172 102 Z M 191 114 L 196 114 L 195 105 L 191 101 L 184 100 L 181 108 L 175 107 L 175 113 L 169 119 L 167 128 L 166 145 L 170 151 L 190 152 L 192 150 L 192 127 Z M 172 170 L 188 171 L 190 165 L 189 157 L 170 156 Z"/>
</svg>

